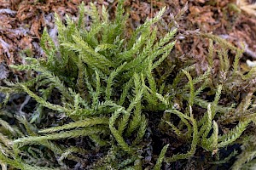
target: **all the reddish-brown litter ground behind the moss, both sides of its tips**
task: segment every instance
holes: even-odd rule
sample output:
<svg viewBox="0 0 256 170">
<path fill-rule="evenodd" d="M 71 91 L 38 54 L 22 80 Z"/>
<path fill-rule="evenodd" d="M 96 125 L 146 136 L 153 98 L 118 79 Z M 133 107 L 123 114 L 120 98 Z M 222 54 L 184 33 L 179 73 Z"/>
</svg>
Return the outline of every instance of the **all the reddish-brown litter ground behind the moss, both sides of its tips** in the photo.
<svg viewBox="0 0 256 170">
<path fill-rule="evenodd" d="M 98 8 L 101 8 L 102 4 L 107 6 L 110 17 L 113 16 L 117 3 L 115 0 L 0 0 L 0 85 L 4 78 L 24 78 L 23 73 L 10 71 L 8 65 L 23 64 L 26 55 L 44 57 L 44 52 L 40 48 L 40 37 L 44 27 L 47 27 L 50 37 L 55 39 L 55 13 L 59 14 L 62 20 L 65 20 L 66 14 L 77 20 L 81 2 L 88 7 L 90 2 L 96 3 Z M 153 17 L 160 8 L 166 6 L 166 23 L 174 21 L 173 18 L 178 19 L 174 21 L 179 28 L 175 53 L 180 59 L 193 59 L 199 70 L 205 71 L 209 42 L 196 36 L 196 33 L 212 32 L 236 47 L 245 47 L 241 57 L 241 69 L 247 71 L 245 61 L 256 60 L 256 12 L 245 4 L 237 5 L 236 0 L 190 0 L 186 6 L 187 2 L 126 0 L 125 10 L 130 14 L 129 26 L 131 29 L 136 28 L 147 17 Z M 253 3 L 253 0 L 248 3 Z M 184 12 L 183 15 L 177 16 L 181 11 Z M 215 64 L 218 65 L 218 62 Z M 204 163 L 198 162 L 197 167 L 200 164 Z M 194 164 L 187 169 L 193 169 L 192 165 Z"/>
</svg>

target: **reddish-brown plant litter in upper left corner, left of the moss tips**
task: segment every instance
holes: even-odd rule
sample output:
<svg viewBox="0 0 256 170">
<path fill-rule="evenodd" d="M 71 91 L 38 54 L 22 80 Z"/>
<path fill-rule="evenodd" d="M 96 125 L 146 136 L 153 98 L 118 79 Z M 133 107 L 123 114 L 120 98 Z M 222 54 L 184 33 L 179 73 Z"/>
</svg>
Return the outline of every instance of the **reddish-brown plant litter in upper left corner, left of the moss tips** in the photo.
<svg viewBox="0 0 256 170">
<path fill-rule="evenodd" d="M 42 2 L 42 3 L 40 3 Z M 20 52 L 40 56 L 38 42 L 45 26 L 52 27 L 54 13 L 75 16 L 81 0 L 0 0 L 0 63 L 22 62 Z M 86 3 L 86 2 L 85 2 Z"/>
</svg>

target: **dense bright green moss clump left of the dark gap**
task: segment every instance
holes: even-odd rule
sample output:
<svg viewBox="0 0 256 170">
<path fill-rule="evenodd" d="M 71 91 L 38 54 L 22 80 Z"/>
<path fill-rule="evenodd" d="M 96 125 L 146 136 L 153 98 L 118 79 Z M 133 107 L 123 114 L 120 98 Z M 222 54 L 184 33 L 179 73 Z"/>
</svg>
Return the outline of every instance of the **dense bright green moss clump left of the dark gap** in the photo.
<svg viewBox="0 0 256 170">
<path fill-rule="evenodd" d="M 15 157 L 26 153 L 24 147 L 35 145 L 32 148 L 37 148 L 36 145 L 42 145 L 51 150 L 54 156 L 61 157 L 58 159 L 60 166 L 67 167 L 63 160 L 79 161 L 74 153 L 82 148 L 67 150 L 62 145 L 55 145 L 54 141 L 84 136 L 98 146 L 118 144 L 128 154 L 139 156 L 136 153 L 137 144 L 143 140 L 148 124 L 143 114 L 142 100 L 146 89 L 142 83 L 148 80 L 149 88 L 152 88 L 150 91 L 157 92 L 152 71 L 171 52 L 177 29 L 157 39 L 158 28 L 154 24 L 165 13 L 166 9 L 163 8 L 153 19 L 138 26 L 131 37 L 125 37 L 124 17 L 128 15 L 124 15 L 122 3 L 118 3 L 114 20 L 108 20 L 105 7 L 102 7 L 100 15 L 94 3 L 90 3 L 90 10 L 85 10 L 84 3 L 81 4 L 78 23 L 66 16 L 65 26 L 55 14 L 58 44 L 49 37 L 46 29 L 42 35 L 41 46 L 47 58 L 26 58 L 27 65 L 12 65 L 18 71 L 38 73 L 38 77 L 28 82 L 7 82 L 8 87 L 1 88 L 6 94 L 25 92 L 37 101 L 37 112 L 30 117 L 31 123 L 39 123 L 45 114 L 47 116 L 46 110 L 70 117 L 73 121 L 38 130 L 20 119 L 28 136 L 11 140 L 1 135 L 3 144 L 14 144 Z M 91 18 L 89 29 L 89 23 L 84 23 L 84 14 Z M 48 99 L 55 98 L 54 95 L 60 95 L 58 101 L 49 102 Z M 154 96 L 153 103 L 156 100 Z M 3 124 L 8 130 L 12 129 L 8 123 Z M 136 138 L 132 144 L 127 144 L 126 139 L 132 135 L 136 135 Z M 134 165 L 139 167 L 140 163 L 136 162 Z M 18 167 L 15 161 L 7 163 Z M 113 167 L 117 165 L 113 164 Z"/>
</svg>

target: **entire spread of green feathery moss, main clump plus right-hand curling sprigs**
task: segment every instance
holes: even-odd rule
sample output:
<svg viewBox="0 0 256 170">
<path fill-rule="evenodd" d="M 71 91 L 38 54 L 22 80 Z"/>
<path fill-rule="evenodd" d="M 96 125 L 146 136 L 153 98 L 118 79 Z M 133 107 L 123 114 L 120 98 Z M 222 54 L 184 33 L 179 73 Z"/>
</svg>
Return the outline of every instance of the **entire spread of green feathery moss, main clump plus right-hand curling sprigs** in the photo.
<svg viewBox="0 0 256 170">
<path fill-rule="evenodd" d="M 34 71 L 37 77 L 26 82 L 6 81 L 0 91 L 7 97 L 26 93 L 37 105 L 34 112 L 26 116 L 15 114 L 13 118 L 20 123 L 17 127 L 6 121 L 9 113 L 4 108 L 8 98 L 3 102 L 1 117 L 5 120 L 0 119 L 3 169 L 7 165 L 20 169 L 73 168 L 68 165 L 69 161 L 85 169 L 143 169 L 143 140 L 148 120 L 155 112 L 161 113 L 162 118 L 160 125 L 154 128 L 162 133 L 172 132 L 190 145 L 187 153 L 170 155 L 169 144 L 166 144 L 157 161 L 154 160 L 155 166 L 151 166 L 160 169 L 162 162 L 194 156 L 198 146 L 216 154 L 218 149 L 234 144 L 255 121 L 254 115 L 249 114 L 253 110 L 253 106 L 249 106 L 254 89 L 236 108 L 218 104 L 222 91 L 229 94 L 228 87 L 237 78 L 241 83 L 235 83 L 236 88 L 255 77 L 255 69 L 247 75 L 239 71 L 241 49 L 218 37 L 201 34 L 212 40 L 208 54 L 210 67 L 218 52 L 220 76 L 213 77 L 216 75 L 210 67 L 196 75 L 195 65 L 178 67 L 172 63 L 168 74 L 157 78 L 155 70 L 171 53 L 177 29 L 170 27 L 165 35 L 157 37 L 159 28 L 154 24 L 165 13 L 162 8 L 153 19 L 146 20 L 127 36 L 125 19 L 128 15 L 124 14 L 122 3 L 124 1 L 118 3 L 114 20 L 108 20 L 105 7 L 100 15 L 93 3 L 89 11 L 81 4 L 78 23 L 67 16 L 64 25 L 55 15 L 59 44 L 53 42 L 46 29 L 41 39 L 47 58 L 26 58 L 26 65 L 12 65 L 18 71 Z M 84 14 L 90 15 L 90 23 L 84 23 Z M 213 49 L 213 42 L 222 48 Z M 227 48 L 236 53 L 233 64 Z M 174 77 L 171 82 L 169 76 Z M 215 94 L 214 99 L 202 98 L 207 88 L 209 94 Z M 197 113 L 199 109 L 201 112 Z M 55 117 L 49 120 L 52 124 L 42 126 L 50 115 Z M 178 118 L 177 123 L 173 116 Z M 236 126 L 227 133 L 220 133 L 230 122 L 236 122 Z M 84 139 L 85 142 L 72 144 L 69 139 L 77 143 Z M 246 151 L 247 147 L 244 148 Z M 101 150 L 102 155 L 91 156 L 94 150 Z M 91 156 L 90 161 L 88 156 Z M 250 156 L 253 159 L 255 153 Z M 43 167 L 44 162 L 32 166 L 40 159 L 51 160 L 48 167 Z M 234 166 L 250 160 L 238 161 Z"/>
</svg>

